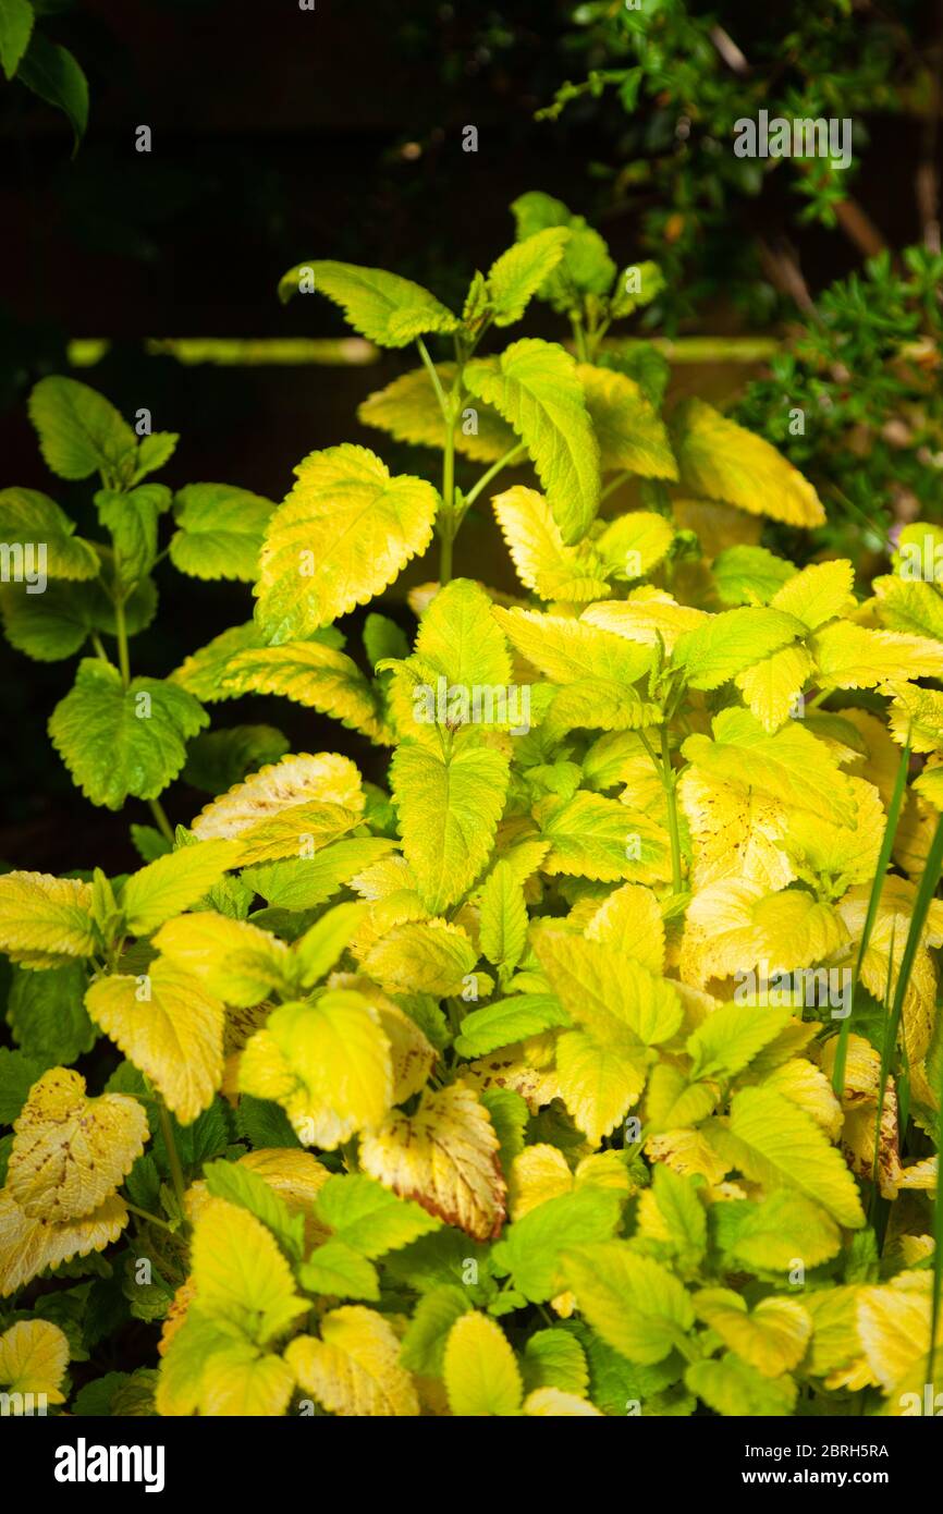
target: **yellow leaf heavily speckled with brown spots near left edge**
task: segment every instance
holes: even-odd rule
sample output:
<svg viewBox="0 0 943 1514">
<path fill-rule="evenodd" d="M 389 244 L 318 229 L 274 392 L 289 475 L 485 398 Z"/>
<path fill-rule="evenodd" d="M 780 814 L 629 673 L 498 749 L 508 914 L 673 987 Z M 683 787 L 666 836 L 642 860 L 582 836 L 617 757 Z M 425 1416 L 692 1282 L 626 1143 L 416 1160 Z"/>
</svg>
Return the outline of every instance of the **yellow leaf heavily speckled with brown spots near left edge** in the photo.
<svg viewBox="0 0 943 1514">
<path fill-rule="evenodd" d="M 89 1099 L 80 1073 L 53 1067 L 33 1084 L 14 1125 L 9 1193 L 30 1219 L 82 1219 L 114 1193 L 147 1139 L 136 1099 Z"/>
</svg>

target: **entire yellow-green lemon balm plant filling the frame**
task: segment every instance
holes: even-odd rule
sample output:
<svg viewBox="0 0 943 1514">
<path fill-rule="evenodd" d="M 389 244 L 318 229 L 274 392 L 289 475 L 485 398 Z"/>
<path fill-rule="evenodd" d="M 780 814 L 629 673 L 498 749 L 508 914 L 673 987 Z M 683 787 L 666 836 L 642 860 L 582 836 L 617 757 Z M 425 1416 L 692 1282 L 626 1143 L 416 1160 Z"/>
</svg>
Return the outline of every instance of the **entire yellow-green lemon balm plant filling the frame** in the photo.
<svg viewBox="0 0 943 1514">
<path fill-rule="evenodd" d="M 35 392 L 53 471 L 101 474 L 110 544 L 6 491 L 9 560 L 45 544 L 48 575 L 5 586 L 6 630 L 91 651 L 53 742 L 94 804 L 157 824 L 127 877 L 0 878 L 11 1394 L 763 1416 L 935 1393 L 943 600 L 914 565 L 940 542 L 908 527 L 867 587 L 764 548 L 764 519 L 822 522 L 813 488 L 707 404 L 666 422 L 660 374 L 602 345 L 657 269 L 545 195 L 515 210 L 460 313 L 378 269 L 283 280 L 415 345 L 360 419 L 440 453 L 430 477 L 341 444 L 279 507 L 171 497 L 142 481 L 170 441 L 80 385 Z M 531 300 L 574 351 L 495 339 Z M 460 574 L 477 501 L 516 593 Z M 412 645 L 381 610 L 345 643 L 433 537 Z M 132 675 L 163 554 L 251 580 L 254 615 Z M 206 731 L 247 692 L 336 718 L 339 751 Z M 173 830 L 185 762 L 212 798 Z M 104 1370 L 133 1322 L 150 1352 Z"/>
</svg>

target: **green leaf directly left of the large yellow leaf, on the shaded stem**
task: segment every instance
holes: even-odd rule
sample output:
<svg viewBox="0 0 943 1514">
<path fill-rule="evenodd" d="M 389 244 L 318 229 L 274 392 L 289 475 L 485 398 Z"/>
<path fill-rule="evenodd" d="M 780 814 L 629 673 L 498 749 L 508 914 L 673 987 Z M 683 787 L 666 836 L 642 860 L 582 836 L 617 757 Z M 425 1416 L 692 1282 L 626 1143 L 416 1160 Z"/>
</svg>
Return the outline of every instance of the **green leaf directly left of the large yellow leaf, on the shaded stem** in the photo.
<svg viewBox="0 0 943 1514">
<path fill-rule="evenodd" d="M 188 484 L 174 498 L 177 530 L 170 544 L 174 568 L 191 578 L 251 583 L 274 509 L 272 500 L 227 483 Z"/>
</svg>

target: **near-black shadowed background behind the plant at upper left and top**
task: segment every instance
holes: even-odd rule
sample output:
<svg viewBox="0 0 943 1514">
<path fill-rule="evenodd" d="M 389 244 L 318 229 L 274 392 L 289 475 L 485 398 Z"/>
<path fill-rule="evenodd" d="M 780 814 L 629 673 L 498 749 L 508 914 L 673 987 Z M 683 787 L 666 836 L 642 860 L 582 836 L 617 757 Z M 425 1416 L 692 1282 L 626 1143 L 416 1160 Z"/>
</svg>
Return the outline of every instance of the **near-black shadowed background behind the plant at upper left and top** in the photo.
<svg viewBox="0 0 943 1514">
<path fill-rule="evenodd" d="M 790 6 L 714 9 L 748 36 L 784 26 Z M 154 428 L 180 431 L 160 474 L 174 488 L 221 480 L 280 500 L 306 453 L 341 441 L 378 447 L 394 466 L 428 466 L 431 454 L 397 456 L 354 419 L 357 403 L 415 366 L 415 354 L 347 368 L 188 368 L 145 356 L 142 339 L 342 335 L 325 301 L 279 306 L 279 276 L 307 257 L 392 268 L 460 303 L 472 269 L 513 239 L 507 206 L 527 189 L 596 217 L 621 263 L 637 256 L 631 217 L 605 215 L 605 185 L 592 171 L 618 156 L 618 107 L 533 121 L 563 79 L 584 71 L 566 55 L 571 12 L 556 0 L 500 9 L 316 0 L 313 12 L 297 0 L 89 0 L 47 23 L 89 77 L 91 121 L 73 159 L 64 120 L 23 88 L 0 85 L 0 481 L 44 489 L 98 534 L 92 486 L 51 478 L 36 450 L 24 400 L 45 372 L 71 372 L 126 416 L 145 406 Z M 153 132 L 150 154 L 135 150 L 141 124 Z M 478 129 L 477 153 L 462 150 L 466 124 Z M 911 177 L 899 167 L 913 160 L 917 126 L 887 118 L 869 127 L 857 194 L 901 245 L 919 232 Z M 763 217 L 764 235 L 775 235 L 775 198 L 764 197 Z M 813 288 L 855 260 L 840 238 L 807 233 Z M 562 335 L 552 316 L 530 329 Z M 736 316 L 716 304 L 699 329 L 730 332 Z M 107 338 L 110 350 L 94 368 L 70 369 L 64 344 L 83 336 Z M 681 371 L 678 383 L 724 397 L 752 371 Z M 487 521 L 469 521 L 462 568 L 495 581 L 495 545 Z M 433 574 L 425 560 L 407 581 Z M 168 563 L 157 584 L 157 621 L 132 642 L 138 672 L 170 672 L 251 613 L 245 586 L 203 584 Z M 45 734 L 73 677 L 74 660 L 0 653 L 0 860 L 59 872 L 94 858 L 118 872 L 135 864 L 129 819 L 150 815 L 136 801 L 123 815 L 94 810 L 73 789 Z M 286 701 L 226 704 L 213 724 L 245 719 L 280 727 L 294 749 L 341 739 L 381 777 L 366 742 Z M 165 807 L 186 822 L 206 798 L 177 783 Z"/>
</svg>

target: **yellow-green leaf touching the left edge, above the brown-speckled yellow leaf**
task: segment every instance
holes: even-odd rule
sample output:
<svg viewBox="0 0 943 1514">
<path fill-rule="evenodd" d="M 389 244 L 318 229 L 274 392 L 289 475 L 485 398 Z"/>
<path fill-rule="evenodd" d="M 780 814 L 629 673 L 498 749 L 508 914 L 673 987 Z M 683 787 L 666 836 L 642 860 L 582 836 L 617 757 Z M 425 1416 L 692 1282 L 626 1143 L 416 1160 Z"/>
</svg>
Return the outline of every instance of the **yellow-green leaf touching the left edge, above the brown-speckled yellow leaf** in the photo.
<svg viewBox="0 0 943 1514">
<path fill-rule="evenodd" d="M 97 949 L 91 884 L 45 872 L 0 877 L 0 948 L 24 967 L 61 967 Z"/>
</svg>

